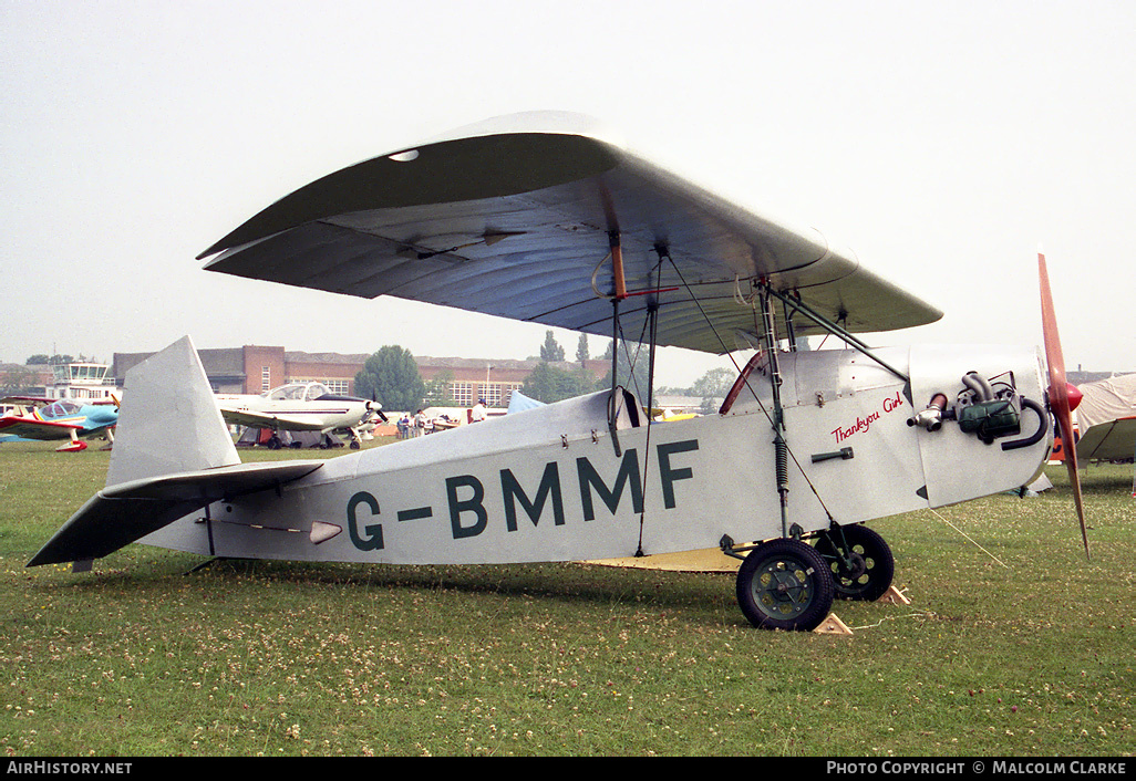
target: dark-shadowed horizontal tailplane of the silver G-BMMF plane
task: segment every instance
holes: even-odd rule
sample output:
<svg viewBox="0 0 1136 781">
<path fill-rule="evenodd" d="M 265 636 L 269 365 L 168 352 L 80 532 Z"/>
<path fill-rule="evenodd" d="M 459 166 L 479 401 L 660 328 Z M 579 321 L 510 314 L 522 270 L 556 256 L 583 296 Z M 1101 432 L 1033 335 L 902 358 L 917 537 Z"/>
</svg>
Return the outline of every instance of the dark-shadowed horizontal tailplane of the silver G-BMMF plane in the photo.
<svg viewBox="0 0 1136 781">
<path fill-rule="evenodd" d="M 72 515 L 27 565 L 106 556 L 212 502 L 277 488 L 323 464 L 323 461 L 235 464 L 109 486 Z"/>
</svg>

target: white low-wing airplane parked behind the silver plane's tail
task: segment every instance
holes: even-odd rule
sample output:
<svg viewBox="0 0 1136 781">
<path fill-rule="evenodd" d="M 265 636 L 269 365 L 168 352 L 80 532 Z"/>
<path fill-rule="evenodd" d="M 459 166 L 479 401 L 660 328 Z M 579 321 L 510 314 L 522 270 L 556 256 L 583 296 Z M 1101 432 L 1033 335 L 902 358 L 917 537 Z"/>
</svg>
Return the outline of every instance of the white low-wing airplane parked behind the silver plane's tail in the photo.
<svg viewBox="0 0 1136 781">
<path fill-rule="evenodd" d="M 359 450 L 376 415 L 386 419 L 378 402 L 332 393 L 323 383 L 289 383 L 261 394 L 218 395 L 217 404 L 231 423 L 274 431 L 319 431 L 325 437 L 343 433 L 351 437 L 352 450 Z M 278 447 L 279 439 L 273 439 Z"/>
</svg>

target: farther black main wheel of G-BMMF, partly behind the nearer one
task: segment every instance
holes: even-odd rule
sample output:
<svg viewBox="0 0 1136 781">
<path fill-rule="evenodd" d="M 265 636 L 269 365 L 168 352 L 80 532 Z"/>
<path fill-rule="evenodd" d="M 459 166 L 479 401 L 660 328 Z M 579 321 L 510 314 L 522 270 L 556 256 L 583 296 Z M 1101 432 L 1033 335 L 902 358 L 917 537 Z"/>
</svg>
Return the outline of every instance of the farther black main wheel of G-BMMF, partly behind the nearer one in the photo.
<svg viewBox="0 0 1136 781">
<path fill-rule="evenodd" d="M 875 602 L 892 586 L 892 549 L 866 526 L 833 526 L 817 538 L 817 552 L 833 573 L 837 599 Z"/>
</svg>

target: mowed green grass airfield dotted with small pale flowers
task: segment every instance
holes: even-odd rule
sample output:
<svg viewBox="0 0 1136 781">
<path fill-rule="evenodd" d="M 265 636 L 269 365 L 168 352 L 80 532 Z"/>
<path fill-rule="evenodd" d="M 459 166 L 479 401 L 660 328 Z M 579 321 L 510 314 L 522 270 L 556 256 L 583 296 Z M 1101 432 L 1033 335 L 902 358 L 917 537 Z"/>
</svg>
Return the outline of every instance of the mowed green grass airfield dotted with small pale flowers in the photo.
<svg viewBox="0 0 1136 781">
<path fill-rule="evenodd" d="M 1130 756 L 1136 745 L 1131 465 L 1087 472 L 1091 562 L 1061 468 L 1038 497 L 875 522 L 911 604 L 837 603 L 854 633 L 832 636 L 750 628 L 722 574 L 191 572 L 204 560 L 140 545 L 90 573 L 25 569 L 102 486 L 108 457 L 0 445 L 9 756 Z"/>
</svg>

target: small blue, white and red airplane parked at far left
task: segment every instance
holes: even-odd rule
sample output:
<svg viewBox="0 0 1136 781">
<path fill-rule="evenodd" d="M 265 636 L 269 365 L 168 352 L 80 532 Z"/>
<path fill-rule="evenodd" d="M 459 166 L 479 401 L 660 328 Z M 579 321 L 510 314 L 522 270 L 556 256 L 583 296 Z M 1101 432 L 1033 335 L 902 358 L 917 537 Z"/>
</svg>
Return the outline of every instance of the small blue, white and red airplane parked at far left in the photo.
<svg viewBox="0 0 1136 781">
<path fill-rule="evenodd" d="M 0 403 L 31 408 L 23 413 L 6 414 L 0 418 L 0 434 L 43 442 L 66 439 L 56 448 L 59 453 L 85 451 L 86 443 L 83 440 L 94 437 L 105 437 L 108 440 L 107 447 L 115 442 L 114 429 L 118 423 L 117 401 L 77 404 L 67 398 L 9 396 Z"/>
</svg>

